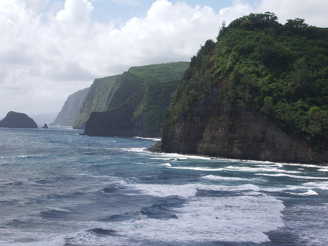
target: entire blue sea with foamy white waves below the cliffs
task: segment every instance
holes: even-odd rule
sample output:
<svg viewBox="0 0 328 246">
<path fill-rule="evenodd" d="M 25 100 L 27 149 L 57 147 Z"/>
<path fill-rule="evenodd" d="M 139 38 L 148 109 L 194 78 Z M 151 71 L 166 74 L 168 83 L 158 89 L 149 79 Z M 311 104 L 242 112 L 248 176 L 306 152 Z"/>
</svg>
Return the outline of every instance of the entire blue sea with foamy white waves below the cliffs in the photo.
<svg viewBox="0 0 328 246">
<path fill-rule="evenodd" d="M 0 128 L 0 245 L 327 245 L 328 169 Z"/>
</svg>

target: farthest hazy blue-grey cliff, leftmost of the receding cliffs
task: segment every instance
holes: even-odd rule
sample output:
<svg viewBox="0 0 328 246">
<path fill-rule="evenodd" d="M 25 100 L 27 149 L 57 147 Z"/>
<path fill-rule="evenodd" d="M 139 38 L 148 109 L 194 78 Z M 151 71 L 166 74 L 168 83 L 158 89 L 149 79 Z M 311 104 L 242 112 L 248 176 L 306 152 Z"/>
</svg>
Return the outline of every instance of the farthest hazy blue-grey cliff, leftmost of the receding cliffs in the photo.
<svg viewBox="0 0 328 246">
<path fill-rule="evenodd" d="M 78 112 L 87 96 L 89 88 L 79 90 L 69 95 L 63 108 L 61 108 L 56 119 L 50 124 L 52 126 L 73 126 Z"/>
</svg>

